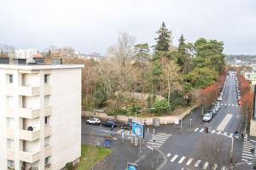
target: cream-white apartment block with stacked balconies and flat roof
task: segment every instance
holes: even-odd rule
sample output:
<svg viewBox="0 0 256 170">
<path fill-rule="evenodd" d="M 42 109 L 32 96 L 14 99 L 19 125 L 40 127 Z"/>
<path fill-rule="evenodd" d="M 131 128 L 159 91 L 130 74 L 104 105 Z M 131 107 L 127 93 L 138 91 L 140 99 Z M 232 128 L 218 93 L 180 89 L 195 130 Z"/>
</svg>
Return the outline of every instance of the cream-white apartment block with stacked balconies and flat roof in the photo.
<svg viewBox="0 0 256 170">
<path fill-rule="evenodd" d="M 1 170 L 60 170 L 79 159 L 83 67 L 0 64 Z"/>
</svg>

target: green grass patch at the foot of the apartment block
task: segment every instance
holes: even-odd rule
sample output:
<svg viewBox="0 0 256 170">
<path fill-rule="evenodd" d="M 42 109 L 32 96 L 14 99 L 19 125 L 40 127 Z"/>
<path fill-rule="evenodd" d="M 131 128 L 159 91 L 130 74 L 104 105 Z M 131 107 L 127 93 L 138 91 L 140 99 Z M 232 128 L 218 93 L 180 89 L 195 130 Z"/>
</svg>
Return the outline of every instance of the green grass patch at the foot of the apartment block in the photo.
<svg viewBox="0 0 256 170">
<path fill-rule="evenodd" d="M 111 152 L 108 148 L 83 144 L 78 170 L 90 170 L 97 162 L 110 155 Z"/>
</svg>

